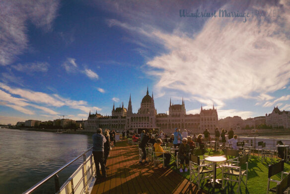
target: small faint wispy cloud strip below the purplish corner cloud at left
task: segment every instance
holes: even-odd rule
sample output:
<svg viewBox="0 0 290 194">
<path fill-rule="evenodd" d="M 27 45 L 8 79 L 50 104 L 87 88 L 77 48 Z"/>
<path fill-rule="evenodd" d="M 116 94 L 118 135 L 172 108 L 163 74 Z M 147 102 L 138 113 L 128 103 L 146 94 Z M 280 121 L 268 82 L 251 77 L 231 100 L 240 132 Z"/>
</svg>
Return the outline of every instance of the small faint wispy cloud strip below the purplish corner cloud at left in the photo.
<svg viewBox="0 0 290 194">
<path fill-rule="evenodd" d="M 47 62 L 34 62 L 12 65 L 11 67 L 20 72 L 47 72 L 49 64 Z"/>
</svg>

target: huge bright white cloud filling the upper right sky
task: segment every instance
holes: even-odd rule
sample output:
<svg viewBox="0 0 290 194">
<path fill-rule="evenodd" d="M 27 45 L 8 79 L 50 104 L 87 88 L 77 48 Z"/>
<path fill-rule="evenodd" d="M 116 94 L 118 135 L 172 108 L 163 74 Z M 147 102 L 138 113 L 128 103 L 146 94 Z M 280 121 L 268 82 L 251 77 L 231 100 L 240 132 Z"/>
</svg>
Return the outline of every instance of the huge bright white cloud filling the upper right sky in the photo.
<svg viewBox="0 0 290 194">
<path fill-rule="evenodd" d="M 184 6 L 186 2 L 175 3 L 174 7 L 192 7 Z M 130 4 L 126 0 L 112 3 L 106 8 L 118 10 L 127 20 L 111 19 L 108 23 L 131 32 L 133 37 L 136 33 L 142 35 L 143 42 L 150 39 L 163 46 L 164 49 L 159 50 L 164 53 L 157 51 L 153 59 L 146 59 L 144 68 L 148 75 L 157 78 L 155 88 L 159 96 L 164 91 L 177 89 L 203 104 L 212 101 L 223 106 L 225 100 L 241 97 L 257 99 L 256 105 L 262 105 L 261 101 L 274 99 L 268 93 L 284 89 L 289 83 L 290 41 L 286 26 L 290 26 L 290 14 L 282 10 L 282 6 L 271 2 L 245 5 L 228 1 L 220 8 L 279 10 L 283 17 L 250 17 L 246 23 L 240 18 L 179 18 L 180 22 L 173 22 L 178 16 L 168 15 L 166 19 L 172 22 L 162 25 L 163 17 L 152 11 L 160 9 L 160 1 L 141 4 Z M 208 5 L 201 1 L 194 7 L 199 6 Z M 283 6 L 286 10 L 289 3 Z M 145 14 L 147 9 L 152 14 Z M 199 31 L 200 26 L 203 27 Z"/>
</svg>

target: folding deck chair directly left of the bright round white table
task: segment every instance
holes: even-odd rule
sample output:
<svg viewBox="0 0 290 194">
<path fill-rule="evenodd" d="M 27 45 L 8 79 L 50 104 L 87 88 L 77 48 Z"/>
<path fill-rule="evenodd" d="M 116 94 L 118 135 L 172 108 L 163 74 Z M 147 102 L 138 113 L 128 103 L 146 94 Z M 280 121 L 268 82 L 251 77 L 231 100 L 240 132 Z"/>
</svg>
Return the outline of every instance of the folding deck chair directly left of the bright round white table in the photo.
<svg viewBox="0 0 290 194">
<path fill-rule="evenodd" d="M 213 178 L 214 169 L 212 164 L 205 164 L 205 160 L 200 160 L 200 156 L 189 155 L 190 183 L 196 181 L 198 191 L 201 190 L 201 181 Z"/>
</svg>

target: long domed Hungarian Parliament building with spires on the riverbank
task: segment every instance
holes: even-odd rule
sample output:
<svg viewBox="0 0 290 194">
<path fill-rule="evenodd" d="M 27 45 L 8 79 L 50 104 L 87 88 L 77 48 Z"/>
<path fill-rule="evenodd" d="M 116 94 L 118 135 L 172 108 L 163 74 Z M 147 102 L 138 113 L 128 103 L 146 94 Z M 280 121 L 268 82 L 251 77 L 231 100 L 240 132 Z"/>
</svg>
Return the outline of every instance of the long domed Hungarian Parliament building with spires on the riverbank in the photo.
<svg viewBox="0 0 290 194">
<path fill-rule="evenodd" d="M 89 112 L 88 118 L 84 123 L 84 130 L 94 132 L 96 128 L 108 128 L 115 131 L 123 131 L 124 129 L 153 129 L 158 128 L 163 132 L 173 132 L 174 128 L 190 130 L 191 132 L 198 133 L 208 128 L 214 132 L 218 126 L 217 109 L 213 105 L 213 109 L 203 109 L 199 114 L 186 114 L 185 103 L 182 98 L 182 104 L 171 104 L 169 102 L 169 114 L 159 113 L 154 105 L 153 93 L 149 95 L 148 88 L 145 97 L 141 101 L 141 106 L 137 113 L 132 112 L 131 95 L 128 107 L 112 109 L 112 116 L 103 116 L 99 113 L 92 114 Z"/>
</svg>

